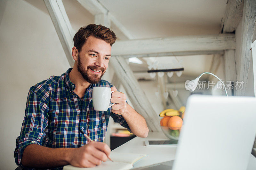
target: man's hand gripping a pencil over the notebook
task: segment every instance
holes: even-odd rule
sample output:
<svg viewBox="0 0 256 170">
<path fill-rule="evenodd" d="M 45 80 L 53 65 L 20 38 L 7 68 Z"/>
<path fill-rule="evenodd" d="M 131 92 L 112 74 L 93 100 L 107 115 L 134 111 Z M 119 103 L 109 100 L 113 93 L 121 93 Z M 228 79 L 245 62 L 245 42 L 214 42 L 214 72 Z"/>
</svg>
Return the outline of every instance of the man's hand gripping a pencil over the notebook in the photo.
<svg viewBox="0 0 256 170">
<path fill-rule="evenodd" d="M 103 142 L 90 142 L 80 148 L 75 148 L 70 154 L 69 164 L 77 167 L 94 167 L 105 162 L 110 154 L 110 148 Z"/>
</svg>

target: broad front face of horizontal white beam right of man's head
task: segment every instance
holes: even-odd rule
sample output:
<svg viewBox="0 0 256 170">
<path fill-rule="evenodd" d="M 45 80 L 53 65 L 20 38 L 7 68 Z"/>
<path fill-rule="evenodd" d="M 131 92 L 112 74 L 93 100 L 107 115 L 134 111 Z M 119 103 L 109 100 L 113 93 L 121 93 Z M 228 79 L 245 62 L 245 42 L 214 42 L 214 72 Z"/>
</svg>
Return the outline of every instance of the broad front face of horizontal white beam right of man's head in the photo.
<svg viewBox="0 0 256 170">
<path fill-rule="evenodd" d="M 113 55 L 137 55 L 185 51 L 222 51 L 235 49 L 235 47 L 234 34 L 196 35 L 116 41 L 112 46 L 111 53 Z"/>
</svg>

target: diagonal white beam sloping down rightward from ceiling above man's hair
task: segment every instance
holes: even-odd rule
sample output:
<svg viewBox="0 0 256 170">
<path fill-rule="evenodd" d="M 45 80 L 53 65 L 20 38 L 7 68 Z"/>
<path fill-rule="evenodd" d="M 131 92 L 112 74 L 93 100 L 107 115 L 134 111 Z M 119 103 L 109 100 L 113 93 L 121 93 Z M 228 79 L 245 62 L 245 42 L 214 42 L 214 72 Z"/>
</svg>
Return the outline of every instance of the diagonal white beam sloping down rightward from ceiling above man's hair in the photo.
<svg viewBox="0 0 256 170">
<path fill-rule="evenodd" d="M 87 11 L 92 15 L 104 14 L 109 17 L 114 25 L 128 38 L 134 39 L 134 36 L 113 16 L 106 7 L 104 7 L 98 0 L 77 0 Z M 104 25 L 105 26 L 105 25 Z"/>
</svg>

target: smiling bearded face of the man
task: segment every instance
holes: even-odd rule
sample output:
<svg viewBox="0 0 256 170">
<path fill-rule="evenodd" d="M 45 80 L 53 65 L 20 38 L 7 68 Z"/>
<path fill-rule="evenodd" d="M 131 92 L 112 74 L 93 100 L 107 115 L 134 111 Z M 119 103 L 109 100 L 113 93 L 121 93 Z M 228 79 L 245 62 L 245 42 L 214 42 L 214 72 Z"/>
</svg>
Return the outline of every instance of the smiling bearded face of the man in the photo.
<svg viewBox="0 0 256 170">
<path fill-rule="evenodd" d="M 111 57 L 110 44 L 93 36 L 87 38 L 86 43 L 78 54 L 77 69 L 84 80 L 98 83 L 108 68 Z"/>
</svg>

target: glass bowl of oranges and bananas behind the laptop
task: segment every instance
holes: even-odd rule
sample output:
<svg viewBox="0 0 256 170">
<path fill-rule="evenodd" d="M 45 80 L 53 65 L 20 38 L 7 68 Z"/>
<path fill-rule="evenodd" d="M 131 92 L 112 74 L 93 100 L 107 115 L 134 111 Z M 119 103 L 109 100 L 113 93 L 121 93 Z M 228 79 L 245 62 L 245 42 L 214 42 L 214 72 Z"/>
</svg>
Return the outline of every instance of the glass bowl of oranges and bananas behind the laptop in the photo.
<svg viewBox="0 0 256 170">
<path fill-rule="evenodd" d="M 179 139 L 185 109 L 184 106 L 180 107 L 180 110 L 166 109 L 159 114 L 160 117 L 163 117 L 160 120 L 160 125 L 167 138 Z"/>
</svg>

